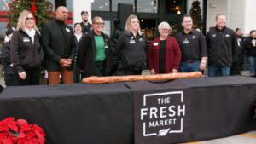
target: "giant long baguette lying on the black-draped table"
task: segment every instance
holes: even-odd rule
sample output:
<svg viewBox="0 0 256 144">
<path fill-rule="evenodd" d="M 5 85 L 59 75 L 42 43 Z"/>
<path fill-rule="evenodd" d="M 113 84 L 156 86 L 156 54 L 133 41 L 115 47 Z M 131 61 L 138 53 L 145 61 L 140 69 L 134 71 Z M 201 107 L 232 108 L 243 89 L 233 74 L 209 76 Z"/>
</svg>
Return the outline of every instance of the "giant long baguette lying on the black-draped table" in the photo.
<svg viewBox="0 0 256 144">
<path fill-rule="evenodd" d="M 201 72 L 182 72 L 182 73 L 166 73 L 166 74 L 155 74 L 155 75 L 131 75 L 131 76 L 108 76 L 108 77 L 96 77 L 91 76 L 83 78 L 82 82 L 87 84 L 104 84 L 113 82 L 131 82 L 138 80 L 168 80 L 177 78 L 199 78 Z"/>
</svg>

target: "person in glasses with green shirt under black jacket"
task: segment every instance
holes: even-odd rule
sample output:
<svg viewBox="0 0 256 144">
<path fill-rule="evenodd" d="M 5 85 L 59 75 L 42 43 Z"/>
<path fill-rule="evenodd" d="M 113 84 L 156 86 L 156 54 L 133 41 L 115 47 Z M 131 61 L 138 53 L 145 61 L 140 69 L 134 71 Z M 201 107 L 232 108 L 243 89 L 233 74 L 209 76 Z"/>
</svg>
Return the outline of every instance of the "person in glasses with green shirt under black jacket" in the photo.
<svg viewBox="0 0 256 144">
<path fill-rule="evenodd" d="M 109 37 L 103 33 L 104 24 L 101 17 L 94 17 L 93 30 L 79 44 L 77 62 L 82 78 L 108 76 L 110 72 L 112 55 Z"/>
</svg>

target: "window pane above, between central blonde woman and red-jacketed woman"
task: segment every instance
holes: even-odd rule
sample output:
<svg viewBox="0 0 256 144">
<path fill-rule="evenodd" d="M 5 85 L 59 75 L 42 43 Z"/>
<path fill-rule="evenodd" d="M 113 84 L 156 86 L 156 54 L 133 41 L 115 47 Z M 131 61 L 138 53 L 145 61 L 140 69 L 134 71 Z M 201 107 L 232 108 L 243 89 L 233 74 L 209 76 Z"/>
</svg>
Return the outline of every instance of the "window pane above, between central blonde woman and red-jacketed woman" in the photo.
<svg viewBox="0 0 256 144">
<path fill-rule="evenodd" d="M 137 12 L 157 13 L 158 0 L 137 0 Z"/>
</svg>

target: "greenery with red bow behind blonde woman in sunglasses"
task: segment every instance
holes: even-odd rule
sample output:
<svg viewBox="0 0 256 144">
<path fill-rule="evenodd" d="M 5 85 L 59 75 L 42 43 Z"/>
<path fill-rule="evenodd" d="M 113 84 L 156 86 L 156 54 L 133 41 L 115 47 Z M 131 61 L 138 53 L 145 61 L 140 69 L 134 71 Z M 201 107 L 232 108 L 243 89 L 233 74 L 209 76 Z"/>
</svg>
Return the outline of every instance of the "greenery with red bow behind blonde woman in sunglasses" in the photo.
<svg viewBox="0 0 256 144">
<path fill-rule="evenodd" d="M 12 0 L 9 9 L 8 27 L 16 27 L 20 12 L 26 9 L 35 16 L 36 24 L 40 28 L 44 22 L 51 19 L 52 4 L 49 0 Z"/>
</svg>

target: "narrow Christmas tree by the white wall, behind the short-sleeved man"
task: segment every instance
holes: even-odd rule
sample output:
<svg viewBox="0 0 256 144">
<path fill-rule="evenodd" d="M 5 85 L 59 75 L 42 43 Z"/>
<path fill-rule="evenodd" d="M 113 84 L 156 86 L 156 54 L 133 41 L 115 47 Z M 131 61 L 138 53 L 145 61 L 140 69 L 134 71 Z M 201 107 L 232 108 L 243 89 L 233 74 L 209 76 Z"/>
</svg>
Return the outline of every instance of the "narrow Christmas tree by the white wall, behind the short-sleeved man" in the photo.
<svg viewBox="0 0 256 144">
<path fill-rule="evenodd" d="M 192 3 L 192 8 L 190 9 L 189 14 L 191 15 L 194 23 L 194 28 L 196 27 L 201 27 L 200 22 L 201 22 L 201 8 L 200 8 L 200 2 L 198 0 L 195 0 Z"/>
</svg>

